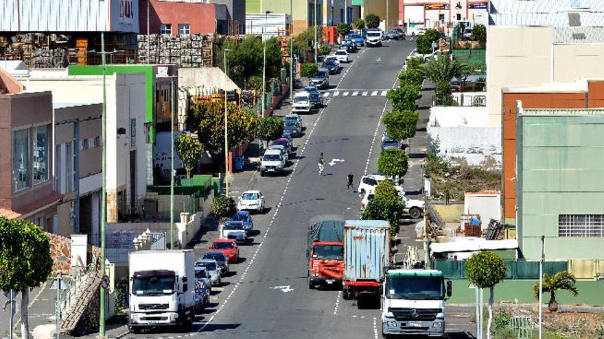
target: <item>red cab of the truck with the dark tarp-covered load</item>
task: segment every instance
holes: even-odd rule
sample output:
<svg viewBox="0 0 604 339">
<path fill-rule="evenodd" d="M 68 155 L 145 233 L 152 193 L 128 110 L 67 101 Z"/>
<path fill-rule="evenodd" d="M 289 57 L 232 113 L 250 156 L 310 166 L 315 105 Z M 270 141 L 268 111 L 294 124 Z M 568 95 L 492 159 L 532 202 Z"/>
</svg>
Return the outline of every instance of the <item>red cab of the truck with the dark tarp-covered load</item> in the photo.
<svg viewBox="0 0 604 339">
<path fill-rule="evenodd" d="M 308 262 L 308 288 L 341 285 L 344 271 L 343 242 L 313 242 Z"/>
</svg>

